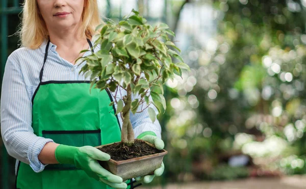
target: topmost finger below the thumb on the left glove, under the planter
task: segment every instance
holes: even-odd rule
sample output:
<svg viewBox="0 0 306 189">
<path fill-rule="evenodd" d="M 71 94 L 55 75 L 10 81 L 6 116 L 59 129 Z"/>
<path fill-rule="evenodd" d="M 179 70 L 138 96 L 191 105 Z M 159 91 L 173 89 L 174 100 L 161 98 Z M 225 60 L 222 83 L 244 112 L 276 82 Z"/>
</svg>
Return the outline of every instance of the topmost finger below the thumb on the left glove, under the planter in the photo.
<svg viewBox="0 0 306 189">
<path fill-rule="evenodd" d="M 95 172 L 100 178 L 103 178 L 112 183 L 121 183 L 123 182 L 122 178 L 112 174 L 108 170 L 101 167 L 97 160 L 92 160 L 89 162 L 89 167 L 91 171 Z"/>
</svg>

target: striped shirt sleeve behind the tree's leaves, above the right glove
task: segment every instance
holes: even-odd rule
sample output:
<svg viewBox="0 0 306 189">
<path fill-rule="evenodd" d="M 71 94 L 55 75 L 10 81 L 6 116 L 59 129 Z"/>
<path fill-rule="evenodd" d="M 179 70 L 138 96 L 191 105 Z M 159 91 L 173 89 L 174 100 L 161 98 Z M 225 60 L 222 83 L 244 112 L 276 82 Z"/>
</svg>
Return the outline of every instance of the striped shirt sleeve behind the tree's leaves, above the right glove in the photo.
<svg viewBox="0 0 306 189">
<path fill-rule="evenodd" d="M 135 98 L 140 98 L 140 96 L 132 95 L 132 101 Z M 151 97 L 150 97 L 150 101 L 152 101 Z M 142 105 L 140 105 L 138 107 L 137 112 L 140 112 L 141 109 L 146 107 L 146 106 L 147 106 L 147 103 L 144 102 Z M 156 112 L 156 115 L 158 115 L 158 110 L 156 109 L 156 107 L 154 105 L 150 104 L 149 107 L 154 109 L 155 112 Z M 145 131 L 155 132 L 156 136 L 158 138 L 161 138 L 161 131 L 162 131 L 161 125 L 160 125 L 158 119 L 156 119 L 154 123 L 152 122 L 152 120 L 149 117 L 148 109 L 145 109 L 141 113 L 136 113 L 135 115 L 132 112 L 130 112 L 130 120 L 131 120 L 131 123 L 133 125 L 135 138 L 137 138 L 139 136 L 139 134 L 141 134 Z"/>
</svg>

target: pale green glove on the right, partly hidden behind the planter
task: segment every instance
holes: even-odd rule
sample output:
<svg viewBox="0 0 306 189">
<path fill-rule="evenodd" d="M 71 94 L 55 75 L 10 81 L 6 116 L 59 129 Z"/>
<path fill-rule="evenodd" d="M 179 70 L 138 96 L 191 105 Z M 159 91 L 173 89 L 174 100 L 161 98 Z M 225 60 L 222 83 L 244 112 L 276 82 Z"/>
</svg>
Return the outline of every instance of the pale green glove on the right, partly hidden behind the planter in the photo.
<svg viewBox="0 0 306 189">
<path fill-rule="evenodd" d="M 154 144 L 155 147 L 159 150 L 162 150 L 165 147 L 164 141 L 162 141 L 160 138 L 158 138 L 156 136 L 156 134 L 152 131 L 146 131 L 146 132 L 141 133 L 137 137 L 137 139 L 141 139 L 141 140 L 146 141 L 148 143 Z M 137 177 L 135 179 L 137 181 L 143 179 L 144 183 L 150 183 L 154 179 L 155 176 L 161 176 L 164 173 L 164 170 L 165 170 L 165 166 L 164 166 L 164 163 L 162 163 L 161 167 L 154 171 L 154 175 L 146 175 L 146 176 L 142 176 L 142 177 Z"/>
</svg>

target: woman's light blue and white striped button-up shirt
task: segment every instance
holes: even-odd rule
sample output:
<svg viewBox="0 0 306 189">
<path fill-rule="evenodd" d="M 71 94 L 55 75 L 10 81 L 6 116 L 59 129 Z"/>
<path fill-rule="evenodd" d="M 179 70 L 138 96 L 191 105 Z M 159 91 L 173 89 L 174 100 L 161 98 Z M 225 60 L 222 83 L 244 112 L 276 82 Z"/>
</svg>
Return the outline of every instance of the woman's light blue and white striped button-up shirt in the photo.
<svg viewBox="0 0 306 189">
<path fill-rule="evenodd" d="M 8 153 L 23 163 L 29 164 L 35 172 L 41 172 L 46 165 L 38 160 L 38 154 L 44 145 L 53 142 L 51 139 L 38 137 L 32 128 L 32 96 L 39 84 L 39 72 L 43 65 L 47 41 L 37 49 L 18 48 L 8 57 L 2 84 L 1 94 L 1 134 Z M 82 68 L 64 60 L 56 51 L 56 45 L 50 43 L 48 57 L 44 66 L 42 82 L 47 80 L 89 80 L 83 74 Z M 99 50 L 95 47 L 94 51 Z M 90 51 L 84 56 L 90 55 Z M 120 90 L 117 95 L 124 96 Z M 113 93 L 113 95 L 115 95 Z M 118 96 L 120 98 L 120 96 Z M 135 96 L 132 97 L 132 100 Z M 115 104 L 117 108 L 117 105 Z M 154 106 L 151 106 L 156 110 Z M 157 110 L 156 110 L 157 111 Z M 122 121 L 118 114 L 120 125 Z M 148 112 L 133 115 L 131 122 L 135 137 L 144 131 L 153 131 L 161 138 L 161 126 L 158 121 L 152 123 Z"/>
</svg>

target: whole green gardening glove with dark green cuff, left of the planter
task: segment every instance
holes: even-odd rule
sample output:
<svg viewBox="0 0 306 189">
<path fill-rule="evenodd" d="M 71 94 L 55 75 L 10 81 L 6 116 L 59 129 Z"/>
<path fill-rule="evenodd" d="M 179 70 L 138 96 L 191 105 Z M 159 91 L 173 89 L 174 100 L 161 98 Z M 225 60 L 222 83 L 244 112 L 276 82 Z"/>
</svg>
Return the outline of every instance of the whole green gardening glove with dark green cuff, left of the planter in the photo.
<svg viewBox="0 0 306 189">
<path fill-rule="evenodd" d="M 121 177 L 104 169 L 97 161 L 108 161 L 111 156 L 92 146 L 74 147 L 61 144 L 55 150 L 55 157 L 60 164 L 74 165 L 84 170 L 88 176 L 113 188 L 125 189 L 127 187 Z"/>
</svg>

